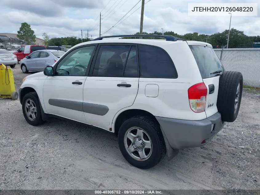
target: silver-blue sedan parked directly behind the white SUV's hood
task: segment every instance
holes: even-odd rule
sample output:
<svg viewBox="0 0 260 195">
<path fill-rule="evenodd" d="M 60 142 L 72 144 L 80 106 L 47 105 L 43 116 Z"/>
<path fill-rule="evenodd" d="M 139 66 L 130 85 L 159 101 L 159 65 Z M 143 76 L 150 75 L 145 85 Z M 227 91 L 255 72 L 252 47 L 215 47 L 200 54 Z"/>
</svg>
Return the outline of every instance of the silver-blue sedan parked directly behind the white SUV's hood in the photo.
<svg viewBox="0 0 260 195">
<path fill-rule="evenodd" d="M 53 65 L 63 54 L 65 54 L 64 51 L 58 50 L 34 51 L 20 61 L 21 70 L 23 73 L 28 73 L 28 71 L 41 72 L 46 66 Z"/>
</svg>

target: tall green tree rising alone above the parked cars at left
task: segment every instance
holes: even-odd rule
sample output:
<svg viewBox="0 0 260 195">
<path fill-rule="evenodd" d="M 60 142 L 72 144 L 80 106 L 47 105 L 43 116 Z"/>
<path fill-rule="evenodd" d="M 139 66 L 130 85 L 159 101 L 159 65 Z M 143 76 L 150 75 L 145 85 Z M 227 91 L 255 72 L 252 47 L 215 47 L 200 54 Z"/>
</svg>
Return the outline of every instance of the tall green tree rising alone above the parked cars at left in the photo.
<svg viewBox="0 0 260 195">
<path fill-rule="evenodd" d="M 34 35 L 34 30 L 31 29 L 31 25 L 26 22 L 21 23 L 20 29 L 17 31 L 18 39 L 25 40 L 27 44 L 32 44 L 35 42 L 36 36 Z"/>
</svg>

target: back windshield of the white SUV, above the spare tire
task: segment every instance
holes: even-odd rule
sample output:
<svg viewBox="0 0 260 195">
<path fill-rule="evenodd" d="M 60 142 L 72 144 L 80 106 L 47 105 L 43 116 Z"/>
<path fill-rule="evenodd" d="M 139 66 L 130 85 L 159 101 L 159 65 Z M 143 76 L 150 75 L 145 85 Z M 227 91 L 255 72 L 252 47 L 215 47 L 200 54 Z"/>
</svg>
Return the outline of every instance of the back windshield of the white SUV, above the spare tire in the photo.
<svg viewBox="0 0 260 195">
<path fill-rule="evenodd" d="M 224 71 L 221 61 L 212 48 L 190 45 L 190 50 L 197 62 L 202 79 L 214 77 L 216 74 L 222 74 L 222 72 L 212 74 L 215 71 Z"/>
</svg>

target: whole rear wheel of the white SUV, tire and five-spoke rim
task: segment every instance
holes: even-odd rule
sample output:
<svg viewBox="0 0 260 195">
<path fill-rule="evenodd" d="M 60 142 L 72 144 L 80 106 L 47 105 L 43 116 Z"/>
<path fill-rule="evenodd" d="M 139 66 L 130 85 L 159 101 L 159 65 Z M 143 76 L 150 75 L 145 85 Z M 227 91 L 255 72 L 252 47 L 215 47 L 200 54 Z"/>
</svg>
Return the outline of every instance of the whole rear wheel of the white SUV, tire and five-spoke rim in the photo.
<svg viewBox="0 0 260 195">
<path fill-rule="evenodd" d="M 118 144 L 125 159 L 140 169 L 154 167 L 166 154 L 160 125 L 148 116 L 127 119 L 119 129 Z"/>
</svg>

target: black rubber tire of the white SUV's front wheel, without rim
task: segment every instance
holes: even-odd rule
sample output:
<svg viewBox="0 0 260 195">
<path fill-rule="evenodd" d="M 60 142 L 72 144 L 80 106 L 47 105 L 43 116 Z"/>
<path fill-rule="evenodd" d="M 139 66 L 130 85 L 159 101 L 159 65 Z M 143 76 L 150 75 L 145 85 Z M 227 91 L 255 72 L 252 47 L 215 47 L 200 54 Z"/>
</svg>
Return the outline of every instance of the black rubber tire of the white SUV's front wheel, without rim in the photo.
<svg viewBox="0 0 260 195">
<path fill-rule="evenodd" d="M 34 107 L 36 107 L 36 109 L 37 109 L 36 117 L 35 117 L 34 120 L 30 120 L 26 115 L 27 110 L 26 110 L 25 104 L 28 100 L 32 100 L 33 101 L 32 105 L 34 105 Z M 36 92 L 27 93 L 23 97 L 23 99 L 22 99 L 22 113 L 23 113 L 25 120 L 33 126 L 37 126 L 37 125 L 43 124 L 45 122 L 45 121 L 42 120 L 41 107 L 40 107 L 40 103 L 38 101 L 38 95 L 37 95 Z"/>
</svg>

